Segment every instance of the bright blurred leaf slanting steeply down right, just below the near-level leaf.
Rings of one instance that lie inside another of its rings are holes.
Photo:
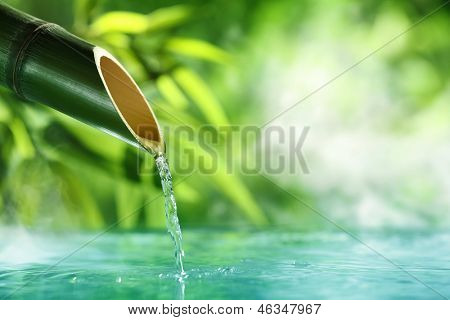
[[[199,75],[187,68],[178,68],[174,72],[174,78],[196,103],[210,124],[216,126],[229,124],[220,102]]]

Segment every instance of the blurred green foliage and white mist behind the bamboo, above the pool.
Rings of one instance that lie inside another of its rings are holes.
[[[443,3],[5,2],[110,50],[163,126],[193,128],[261,125]],[[349,226],[450,225],[449,23],[446,6],[276,119],[311,127],[310,174],[272,179]],[[157,179],[140,174],[142,155],[121,141],[1,89],[0,143],[4,224],[98,229],[141,208],[118,227],[165,225],[162,198],[143,206],[160,193]],[[176,186],[183,226],[327,225],[266,179],[227,175],[225,165]]]

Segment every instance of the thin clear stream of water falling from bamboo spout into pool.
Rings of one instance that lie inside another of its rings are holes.
[[[161,177],[164,193],[167,231],[170,233],[170,236],[175,243],[175,261],[178,272],[181,276],[184,276],[186,273],[183,268],[183,237],[181,235],[180,222],[178,221],[177,203],[173,193],[172,175],[170,174],[169,164],[164,154],[160,154],[156,157],[156,167],[158,168],[159,176]]]

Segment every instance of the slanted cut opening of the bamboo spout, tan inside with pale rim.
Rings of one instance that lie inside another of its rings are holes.
[[[106,90],[131,133],[152,153],[164,152],[164,141],[153,111],[131,76],[102,49],[96,52],[96,63]]]

